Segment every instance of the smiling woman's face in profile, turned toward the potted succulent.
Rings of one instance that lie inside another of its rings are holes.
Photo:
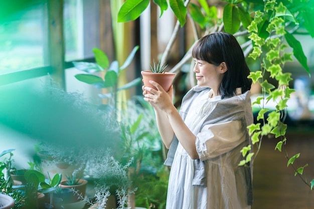
[[[200,87],[209,87],[217,92],[217,89],[223,79],[225,64],[221,63],[219,66],[210,64],[204,60],[194,59],[195,72],[197,84]]]

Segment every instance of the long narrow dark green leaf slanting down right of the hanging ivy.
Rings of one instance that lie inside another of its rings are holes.
[[[307,58],[304,55],[302,46],[299,41],[297,41],[294,36],[286,31],[284,35],[285,40],[289,44],[289,46],[293,49],[294,57],[299,61],[302,67],[306,70],[309,74],[309,68],[307,66]]]

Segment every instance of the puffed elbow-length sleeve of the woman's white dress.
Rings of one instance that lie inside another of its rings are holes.
[[[196,149],[200,160],[224,154],[246,138],[246,128],[241,120],[205,125],[196,136]]]

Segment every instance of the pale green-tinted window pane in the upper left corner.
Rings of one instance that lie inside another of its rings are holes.
[[[35,5],[12,9],[14,4],[11,1],[13,12],[3,14],[0,21],[0,74],[45,65],[46,4],[36,1]]]

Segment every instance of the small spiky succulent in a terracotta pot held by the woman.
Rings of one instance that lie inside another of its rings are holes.
[[[143,77],[144,85],[156,89],[149,83],[149,81],[155,81],[159,83],[166,92],[168,92],[176,74],[165,72],[167,66],[168,65],[164,66],[164,63],[161,64],[161,61],[159,61],[156,65],[156,62],[153,60],[153,66],[150,65],[150,71],[140,72]]]

